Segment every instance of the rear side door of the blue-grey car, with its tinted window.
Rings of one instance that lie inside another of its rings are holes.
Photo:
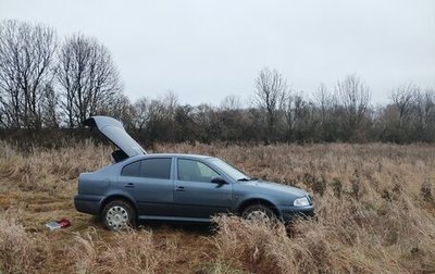
[[[139,217],[173,215],[172,161],[172,158],[145,159],[122,169],[120,187],[136,200]]]

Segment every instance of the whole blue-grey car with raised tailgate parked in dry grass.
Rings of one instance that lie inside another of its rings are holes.
[[[109,229],[141,220],[210,222],[220,213],[283,222],[313,215],[311,197],[302,189],[252,178],[214,157],[148,154],[112,117],[94,116],[84,124],[117,150],[115,163],[79,175],[74,204],[100,215]]]

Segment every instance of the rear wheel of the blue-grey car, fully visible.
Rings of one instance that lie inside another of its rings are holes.
[[[124,200],[113,200],[105,204],[101,217],[109,231],[122,231],[136,224],[136,212],[132,204]]]

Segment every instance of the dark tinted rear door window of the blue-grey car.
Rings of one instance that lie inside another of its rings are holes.
[[[146,159],[140,164],[140,177],[170,179],[171,158]]]

